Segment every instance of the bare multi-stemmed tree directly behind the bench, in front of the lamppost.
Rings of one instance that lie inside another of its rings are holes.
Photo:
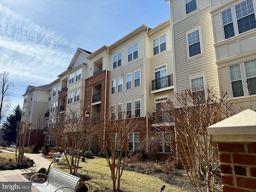
[[[70,174],[75,175],[78,165],[86,145],[91,136],[90,120],[86,118],[86,110],[84,102],[76,102],[67,105],[66,112],[57,113],[55,116],[56,123],[48,129],[48,134],[57,139],[60,147],[64,149],[70,147],[69,157],[65,153]],[[55,122],[55,120],[54,120]]]

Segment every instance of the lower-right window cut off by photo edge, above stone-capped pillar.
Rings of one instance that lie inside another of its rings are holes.
[[[256,59],[244,62],[244,70],[249,95],[256,94]]]

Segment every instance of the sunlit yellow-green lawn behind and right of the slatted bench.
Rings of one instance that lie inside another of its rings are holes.
[[[101,191],[105,188],[112,189],[112,179],[110,175],[110,168],[104,158],[87,159],[86,162],[79,162],[78,173],[85,174],[92,177],[92,180],[84,181],[89,188],[89,192]],[[54,165],[55,168],[60,169],[61,166]],[[69,173],[67,169],[60,169]],[[126,192],[141,192],[141,191],[160,191],[162,185],[165,185],[166,191],[172,192],[186,192],[174,186],[161,181],[158,178],[140,174],[136,172],[124,171],[121,177],[121,190]]]

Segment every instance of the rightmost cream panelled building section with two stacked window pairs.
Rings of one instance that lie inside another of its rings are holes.
[[[256,1],[210,3],[220,87],[239,105],[256,110]]]

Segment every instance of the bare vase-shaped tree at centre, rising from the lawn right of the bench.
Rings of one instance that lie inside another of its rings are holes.
[[[108,162],[113,181],[113,191],[120,190],[120,180],[124,170],[124,164],[128,158],[128,141],[133,132],[138,128],[138,118],[112,109],[102,125],[105,133],[103,150]],[[118,114],[118,120],[116,120]],[[138,147],[134,146],[135,148]],[[133,149],[130,149],[133,150]],[[116,187],[117,182],[117,187]]]

